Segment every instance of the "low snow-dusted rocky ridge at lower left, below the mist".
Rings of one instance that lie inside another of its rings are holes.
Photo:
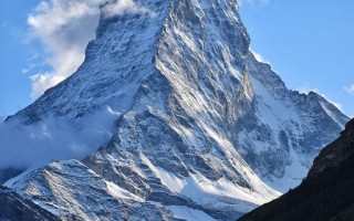
[[[9,183],[10,185],[10,183]],[[80,220],[162,220],[171,213],[100,178],[77,160],[54,161],[11,188],[54,213]]]

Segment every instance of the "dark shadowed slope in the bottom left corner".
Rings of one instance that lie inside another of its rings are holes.
[[[0,186],[0,220],[59,221],[60,219],[14,191]]]

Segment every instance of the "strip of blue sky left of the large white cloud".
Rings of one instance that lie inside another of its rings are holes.
[[[22,73],[34,55],[35,43],[27,44],[27,17],[35,1],[0,1],[0,116],[31,102],[31,81]],[[32,57],[31,57],[32,56]]]

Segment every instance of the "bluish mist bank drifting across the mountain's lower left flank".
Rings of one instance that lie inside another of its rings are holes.
[[[82,159],[104,146],[121,116],[110,107],[75,124],[46,118],[35,125],[0,124],[0,169],[41,167],[52,160]]]

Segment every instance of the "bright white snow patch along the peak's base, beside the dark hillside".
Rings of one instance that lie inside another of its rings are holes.
[[[209,180],[200,172],[179,178],[163,168],[155,167],[143,154],[140,158],[170,191],[184,194],[207,207],[222,208],[225,204],[233,204],[239,211],[247,212],[280,196],[279,192],[268,189],[254,173],[248,173],[251,179],[253,178],[253,185],[259,188],[252,191],[223,178],[217,181]]]

